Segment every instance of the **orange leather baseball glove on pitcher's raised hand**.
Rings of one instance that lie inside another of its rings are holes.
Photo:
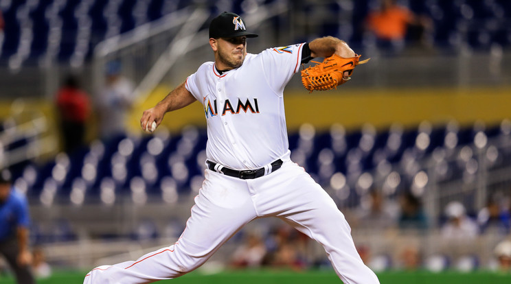
[[[325,58],[323,62],[313,61],[318,64],[302,70],[302,84],[310,93],[314,90],[325,91],[337,88],[351,79],[349,76],[352,75],[356,65],[364,64],[371,59],[359,61],[360,57],[355,54],[352,58],[342,58],[334,54]],[[348,78],[344,77],[345,71],[349,72]]]

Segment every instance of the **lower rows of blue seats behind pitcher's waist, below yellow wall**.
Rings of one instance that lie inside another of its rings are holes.
[[[47,205],[112,204],[115,196],[126,194],[133,202],[145,203],[150,196],[175,202],[177,196],[201,187],[206,140],[205,130],[194,127],[177,135],[164,130],[154,136],[121,135],[94,141],[69,155],[60,153],[45,165],[28,164],[14,177],[21,191]],[[346,189],[344,198],[355,200],[374,186],[388,187],[389,194],[409,189],[420,180],[417,176],[428,174],[429,161],[435,161],[438,182],[475,175],[481,163],[487,169],[506,166],[511,161],[510,142],[508,120],[492,128],[481,123],[459,128],[455,122],[433,127],[423,122],[416,129],[394,125],[379,132],[369,125],[355,132],[334,125],[330,132],[316,133],[304,124],[289,136],[295,163],[323,187]]]

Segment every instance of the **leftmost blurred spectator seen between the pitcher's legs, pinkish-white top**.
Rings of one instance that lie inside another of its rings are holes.
[[[262,264],[262,259],[266,255],[266,247],[262,239],[253,233],[249,233],[245,239],[245,244],[239,246],[231,260],[234,268],[258,268]]]

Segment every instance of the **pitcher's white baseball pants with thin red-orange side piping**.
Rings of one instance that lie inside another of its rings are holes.
[[[280,217],[322,244],[345,284],[379,283],[356,252],[351,228],[332,198],[304,169],[287,159],[277,171],[252,180],[206,169],[192,215],[175,244],[137,261],[95,268],[85,276],[84,284],[174,279],[205,263],[242,226],[268,216]]]

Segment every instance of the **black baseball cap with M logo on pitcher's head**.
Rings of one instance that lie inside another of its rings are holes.
[[[255,38],[258,35],[247,32],[241,17],[232,12],[223,12],[209,24],[209,38],[234,38],[236,36]]]

